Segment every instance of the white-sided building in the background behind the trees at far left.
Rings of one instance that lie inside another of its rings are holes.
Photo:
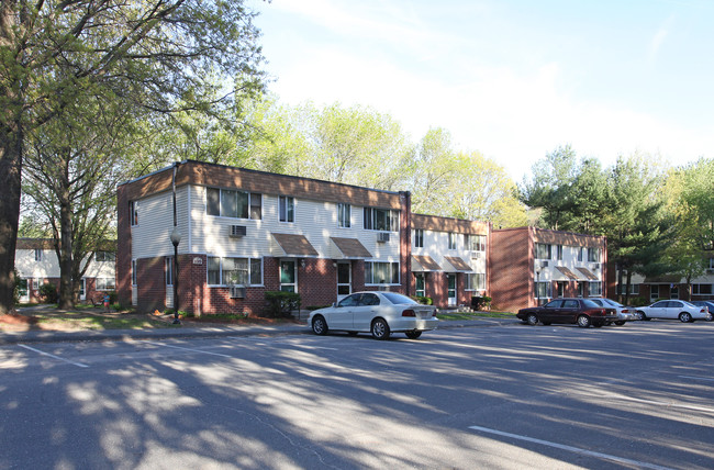
[[[81,280],[79,300],[86,300],[96,292],[115,289],[115,251],[113,246],[111,248],[94,254]],[[88,261],[86,259],[82,267]],[[59,289],[59,259],[54,240],[49,238],[18,238],[15,269],[20,276],[21,302],[40,302],[40,287],[45,283]]]

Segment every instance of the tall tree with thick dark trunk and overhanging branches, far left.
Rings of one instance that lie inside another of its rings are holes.
[[[27,135],[87,89],[155,112],[211,112],[216,93],[259,90],[253,16],[242,0],[0,3],[0,313],[12,309]]]

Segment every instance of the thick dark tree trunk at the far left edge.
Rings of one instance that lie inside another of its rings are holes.
[[[0,112],[11,113],[9,110]],[[7,122],[0,122],[0,314],[14,307],[22,141],[22,125],[19,120],[10,126]]]

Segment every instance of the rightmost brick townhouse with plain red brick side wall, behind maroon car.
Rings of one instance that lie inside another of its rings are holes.
[[[493,307],[515,312],[561,296],[606,296],[605,237],[535,227],[491,232]]]

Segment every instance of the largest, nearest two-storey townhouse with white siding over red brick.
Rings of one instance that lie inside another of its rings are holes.
[[[277,290],[303,306],[413,293],[409,192],[187,160],[118,188],[118,293],[140,311],[174,304],[175,211],[179,310],[255,314]]]

